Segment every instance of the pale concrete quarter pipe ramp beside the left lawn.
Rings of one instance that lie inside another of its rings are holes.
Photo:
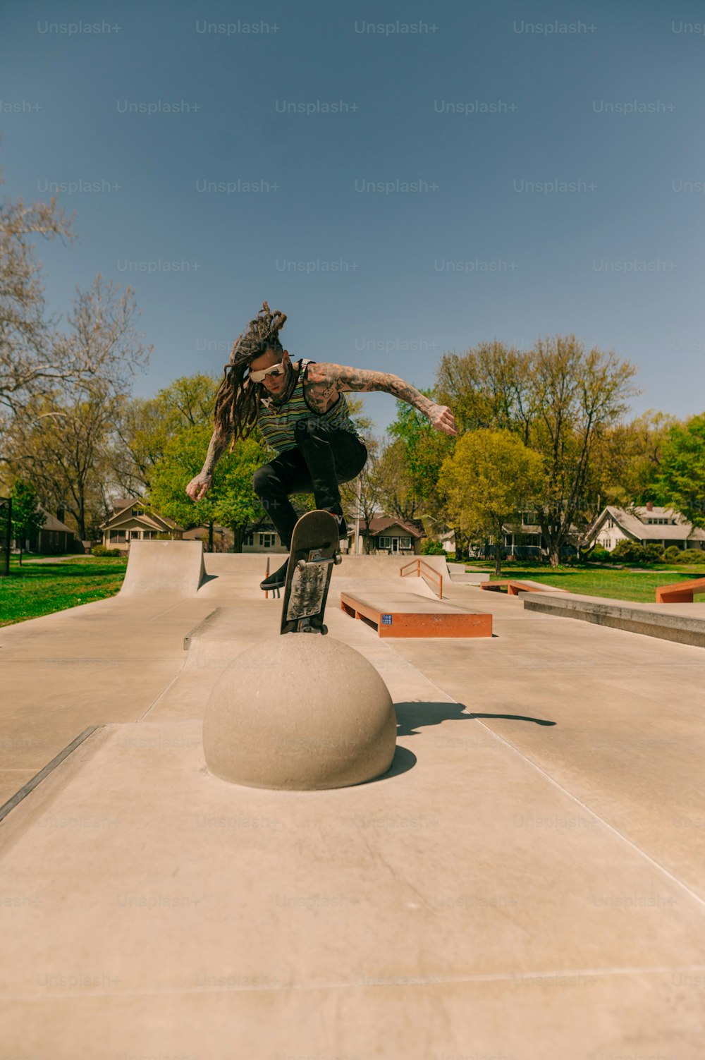
[[[192,597],[204,575],[200,541],[134,541],[119,596]]]

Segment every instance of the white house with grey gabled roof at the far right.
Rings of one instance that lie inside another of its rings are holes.
[[[651,501],[629,512],[609,505],[585,532],[586,546],[599,545],[607,552],[619,541],[639,545],[675,546],[680,549],[705,547],[705,530],[693,527],[674,508],[657,508]]]

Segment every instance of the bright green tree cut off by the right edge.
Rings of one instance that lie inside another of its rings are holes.
[[[705,527],[705,412],[670,428],[653,488],[662,505]]]

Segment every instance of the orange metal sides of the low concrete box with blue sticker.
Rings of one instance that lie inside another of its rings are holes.
[[[423,601],[428,603],[430,601]],[[351,618],[373,626],[380,637],[491,637],[492,615],[479,612],[386,611],[360,600],[352,593],[340,594],[340,608]]]

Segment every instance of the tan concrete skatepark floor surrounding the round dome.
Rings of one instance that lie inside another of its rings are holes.
[[[702,1057],[703,649],[446,577],[492,638],[381,640],[340,589],[429,590],[366,559],[327,623],[398,750],[354,788],[206,768],[213,684],[279,629],[262,555],[0,629],[0,803],[98,726],[0,824],[0,1055]]]

